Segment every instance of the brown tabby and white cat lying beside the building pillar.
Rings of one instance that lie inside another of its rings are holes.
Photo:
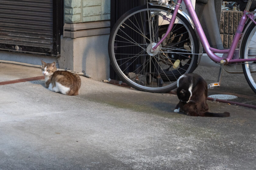
[[[55,62],[41,62],[46,88],[69,96],[79,94],[81,79],[78,74],[73,74],[69,71],[57,71]]]

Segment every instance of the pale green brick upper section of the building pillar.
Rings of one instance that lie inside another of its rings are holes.
[[[110,0],[65,0],[65,22],[79,23],[110,19]]]

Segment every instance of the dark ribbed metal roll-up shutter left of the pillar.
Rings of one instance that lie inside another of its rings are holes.
[[[58,11],[62,5],[59,2],[0,0],[0,49],[47,56],[60,55],[61,24],[58,21],[62,17]]]

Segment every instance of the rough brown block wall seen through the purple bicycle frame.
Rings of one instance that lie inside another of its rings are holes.
[[[221,11],[219,31],[224,48],[231,46],[242,15],[241,11]]]

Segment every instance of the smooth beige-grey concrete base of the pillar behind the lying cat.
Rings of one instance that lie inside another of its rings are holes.
[[[77,72],[84,71],[98,81],[108,79],[108,37],[109,35],[98,35],[72,39],[62,36],[59,67]]]

